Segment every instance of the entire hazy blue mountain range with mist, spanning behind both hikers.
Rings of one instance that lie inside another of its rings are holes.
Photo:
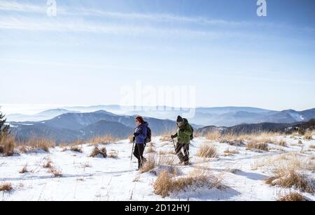
[[[47,110],[32,116],[8,115],[11,131],[21,140],[37,137],[49,138],[57,142],[87,140],[102,135],[127,138],[134,132],[134,117],[136,115],[134,111],[127,111],[134,113],[132,115],[116,114],[106,110],[87,112],[94,108],[106,108],[126,113],[126,110],[130,110],[127,107],[110,105],[68,108],[71,110]],[[179,114],[183,115],[183,111],[176,110],[174,107],[164,107],[164,112],[146,108],[146,110],[139,110],[137,113],[146,116],[146,121],[150,124],[155,135],[173,132],[176,129],[176,123],[170,119],[176,119]],[[163,107],[158,108],[162,110]],[[166,119],[167,116],[170,119]],[[16,121],[12,120],[14,117],[16,117]],[[247,133],[248,131],[281,130],[310,119],[315,119],[315,109],[301,112],[295,110],[279,112],[255,107],[199,107],[195,109],[195,117],[189,121],[196,131],[198,129],[199,133],[209,133],[209,131]]]

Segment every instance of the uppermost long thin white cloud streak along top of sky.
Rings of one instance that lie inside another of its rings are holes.
[[[18,3],[16,1],[2,1],[0,0],[0,10],[16,11],[25,13],[46,13],[45,4],[34,5],[29,3]],[[229,27],[229,28],[241,28],[241,27],[269,27],[272,29],[286,29],[289,31],[297,30],[304,31],[305,33],[313,34],[315,29],[310,27],[292,27],[286,24],[276,24],[272,22],[233,22],[229,20],[215,20],[208,17],[186,17],[171,14],[160,13],[120,13],[104,11],[95,8],[64,8],[57,6],[58,16],[78,16],[78,17],[107,17],[118,20],[140,20],[146,22],[165,22],[165,23],[181,23],[181,24],[197,24],[200,26],[214,26],[214,27]]]

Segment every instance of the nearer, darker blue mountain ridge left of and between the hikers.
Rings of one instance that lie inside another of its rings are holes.
[[[146,121],[155,135],[176,129],[175,121],[169,119],[146,117]],[[20,140],[36,137],[71,142],[102,135],[127,138],[134,133],[134,116],[118,115],[104,110],[88,113],[69,112],[44,121],[10,122],[10,126],[12,133]]]

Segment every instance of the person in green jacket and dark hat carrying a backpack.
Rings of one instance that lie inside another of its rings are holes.
[[[172,139],[177,138],[175,151],[181,163],[189,165],[189,144],[190,137],[193,134],[193,128],[188,123],[188,120],[183,119],[181,116],[177,117],[176,124],[178,127],[177,133],[172,135]],[[183,149],[185,155],[183,155],[181,149]]]

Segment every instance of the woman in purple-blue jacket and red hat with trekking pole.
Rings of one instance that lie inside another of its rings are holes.
[[[138,159],[138,169],[141,169],[146,158],[144,158],[144,149],[146,148],[146,136],[148,133],[148,123],[144,121],[144,118],[138,116],[135,119],[137,127],[134,131],[134,156]]]

